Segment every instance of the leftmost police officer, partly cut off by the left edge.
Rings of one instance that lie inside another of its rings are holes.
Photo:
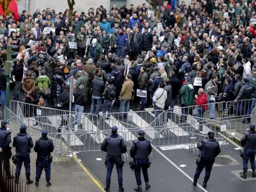
[[[7,121],[1,121],[0,128],[0,164],[4,162],[4,170],[8,178],[13,178],[10,171],[10,159],[12,156],[11,147],[11,131],[6,129]]]

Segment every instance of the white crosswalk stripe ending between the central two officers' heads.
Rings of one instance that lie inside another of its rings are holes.
[[[105,123],[107,123],[109,127],[116,126],[118,127],[119,131],[124,132],[124,136],[126,136],[126,141],[133,141],[137,139],[132,133],[130,133],[130,131],[126,127],[124,127],[124,125],[122,125],[122,123],[120,123],[119,120],[115,119],[113,115],[110,115],[109,119],[105,119]]]

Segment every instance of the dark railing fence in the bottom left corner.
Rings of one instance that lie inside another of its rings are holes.
[[[0,152],[0,191],[3,192],[27,192],[27,185],[20,180],[19,184],[15,183],[14,167],[9,164],[10,154]],[[24,182],[25,183],[25,182]]]

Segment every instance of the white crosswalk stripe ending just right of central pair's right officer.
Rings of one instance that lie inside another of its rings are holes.
[[[140,115],[138,115],[136,112],[130,110],[130,113],[128,115],[132,114],[132,122],[136,124],[141,130],[145,131],[145,133],[150,136],[151,139],[154,138],[163,138],[163,135],[158,133],[158,131],[154,130],[153,127],[151,127]],[[148,130],[149,129],[149,130]],[[156,134],[157,133],[157,134]],[[157,135],[157,136],[156,136]]]

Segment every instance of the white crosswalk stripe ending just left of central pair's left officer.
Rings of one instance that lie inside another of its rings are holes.
[[[97,133],[99,132],[99,130],[96,127],[96,125],[90,119],[88,119],[88,117],[84,114],[82,115],[81,123],[85,131],[95,132],[95,133],[90,133],[90,136],[92,136],[92,138],[96,141],[96,143],[102,143],[102,141],[106,136],[103,133]],[[89,130],[88,127],[92,128],[92,130]]]

